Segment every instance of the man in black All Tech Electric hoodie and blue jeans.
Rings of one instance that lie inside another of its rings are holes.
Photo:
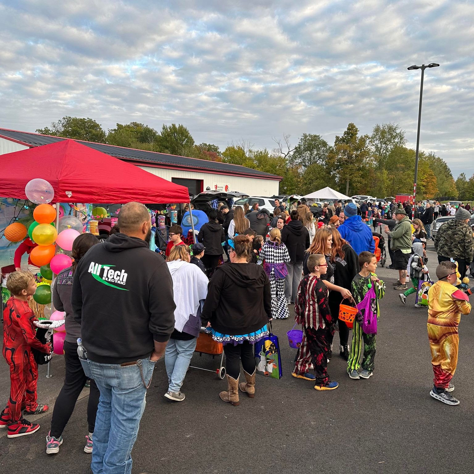
[[[82,366],[100,390],[94,474],[131,471],[146,389],[174,329],[173,282],[163,258],[148,248],[148,210],[125,204],[118,227],[82,257],[71,298],[87,351]]]

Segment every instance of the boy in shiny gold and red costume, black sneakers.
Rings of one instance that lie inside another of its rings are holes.
[[[455,262],[441,262],[436,268],[436,282],[428,291],[428,339],[431,364],[435,374],[434,386],[429,394],[448,405],[458,405],[459,400],[450,392],[457,365],[459,346],[458,326],[461,314],[469,314],[471,305],[467,295],[456,288]]]

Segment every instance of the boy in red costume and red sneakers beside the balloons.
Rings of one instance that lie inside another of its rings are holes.
[[[10,366],[10,397],[0,415],[0,428],[8,428],[8,438],[30,435],[39,429],[21,415],[35,415],[48,410],[47,405],[36,403],[37,365],[31,349],[49,354],[50,346],[36,338],[34,313],[28,298],[36,291],[36,282],[30,272],[10,273],[7,288],[12,296],[3,310],[3,356]]]

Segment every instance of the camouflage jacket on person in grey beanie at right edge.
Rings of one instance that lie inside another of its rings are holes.
[[[451,219],[445,222],[435,237],[438,255],[464,259],[470,264],[474,257],[473,231],[462,220]]]

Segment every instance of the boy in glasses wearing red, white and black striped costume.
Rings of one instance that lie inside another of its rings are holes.
[[[301,280],[295,302],[295,320],[303,325],[310,348],[316,390],[334,390],[339,386],[328,375],[328,353],[336,320],[329,310],[328,290],[320,278],[321,274],[326,273],[327,265],[322,254],[308,257],[310,274]]]

